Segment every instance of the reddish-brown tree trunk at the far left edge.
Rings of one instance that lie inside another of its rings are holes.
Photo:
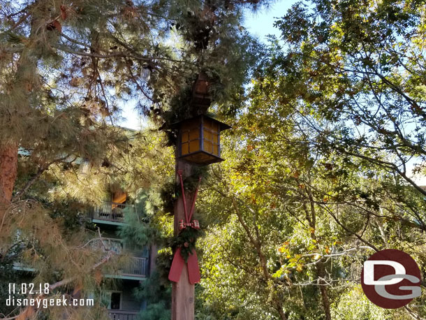
[[[17,144],[0,145],[0,205],[6,206],[12,199],[17,175]]]

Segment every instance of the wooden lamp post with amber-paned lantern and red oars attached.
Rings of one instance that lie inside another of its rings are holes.
[[[220,133],[230,129],[230,126],[204,115],[212,101],[208,94],[208,86],[209,81],[206,75],[200,73],[193,85],[191,99],[191,107],[197,111],[193,113],[198,115],[174,125],[178,133],[175,154],[176,181],[182,188],[182,194],[175,201],[174,207],[175,236],[179,235],[184,228],[199,228],[198,221],[191,221],[197,191],[186,197],[183,187],[184,178],[191,176],[193,166],[207,166],[223,161],[220,157]],[[188,208],[191,208],[190,212]],[[195,250],[193,254],[190,254],[187,262],[181,256],[181,248],[176,250],[169,279],[172,281],[172,320],[193,320],[194,283],[200,279]]]

